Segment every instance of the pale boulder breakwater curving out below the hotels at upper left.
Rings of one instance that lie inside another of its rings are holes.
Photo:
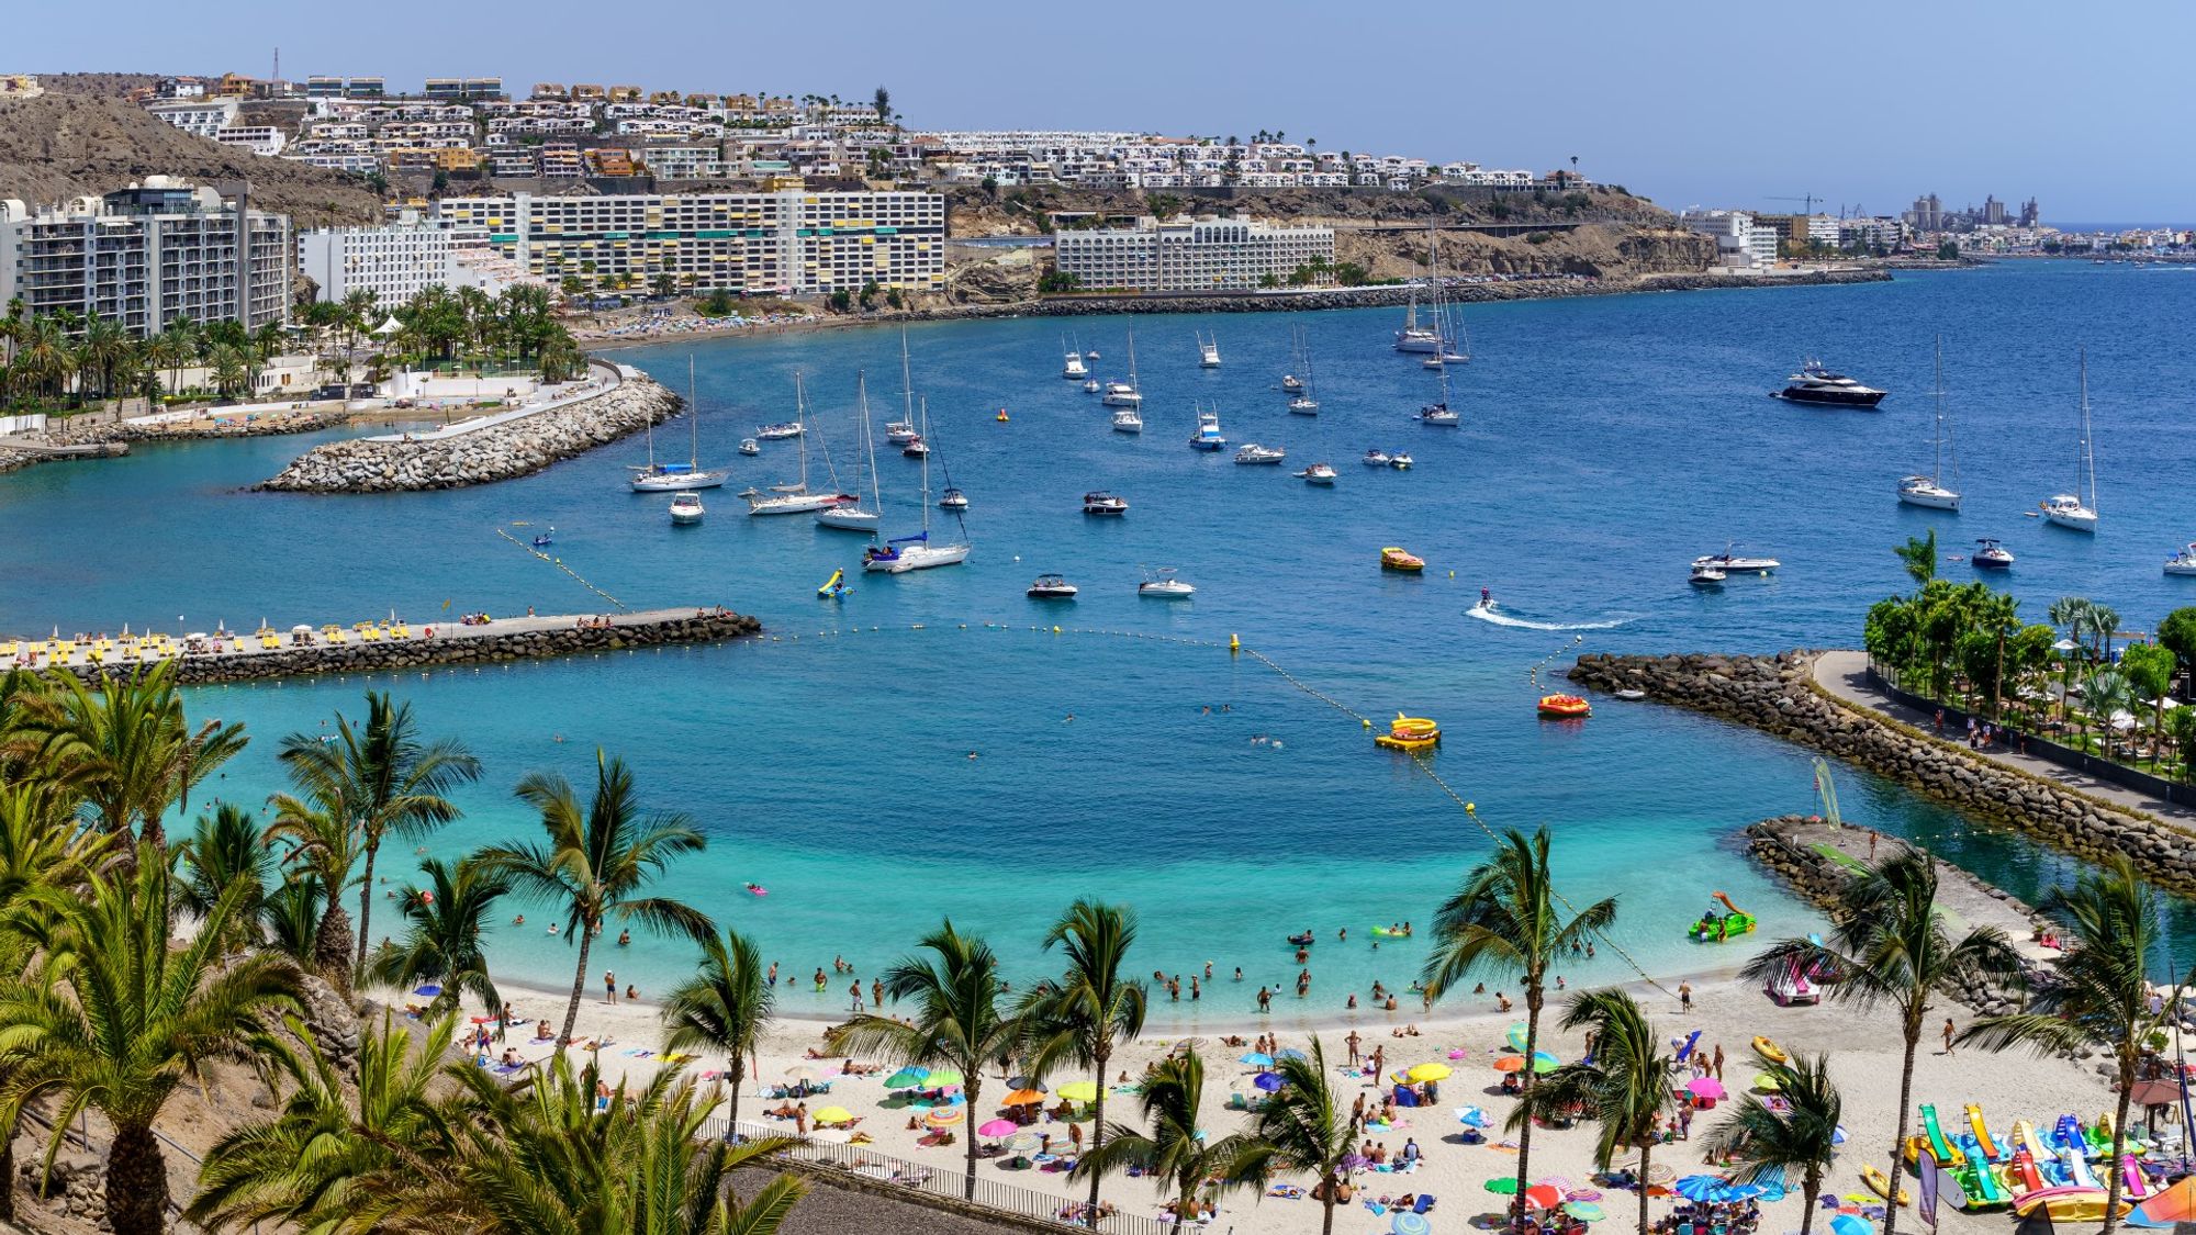
[[[277,492],[408,492],[534,475],[661,424],[683,400],[632,369],[610,389],[457,435],[329,442],[253,488]]]

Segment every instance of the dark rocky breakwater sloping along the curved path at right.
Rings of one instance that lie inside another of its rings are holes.
[[[2126,853],[2156,883],[2196,890],[2196,835],[1831,699],[1814,683],[1812,666],[1810,653],[1590,653],[1570,668],[1570,681],[1590,690],[1640,690],[1658,703],[1748,725],[1889,776],[2077,857]]]

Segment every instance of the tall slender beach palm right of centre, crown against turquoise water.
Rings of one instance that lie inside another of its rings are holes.
[[[1590,936],[1616,921],[1616,899],[1605,897],[1572,910],[1555,892],[1548,872],[1548,828],[1531,837],[1511,828],[1495,842],[1495,853],[1465,875],[1465,881],[1434,914],[1434,945],[1425,958],[1425,993],[1438,1000],[1452,987],[1476,973],[1524,976],[1524,1092],[1531,1097],[1535,1077],[1533,1053],[1539,1050],[1539,1013],[1548,1002],[1548,967],[1581,952]],[[1517,1193],[1524,1195],[1533,1176],[1533,1125],[1517,1132]]]

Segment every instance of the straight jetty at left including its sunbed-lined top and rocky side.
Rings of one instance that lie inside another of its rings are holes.
[[[182,683],[200,686],[323,672],[498,664],[668,644],[720,644],[760,633],[760,620],[729,609],[652,609],[646,613],[615,613],[608,618],[501,618],[474,626],[435,622],[419,628],[404,628],[402,635],[378,633],[373,639],[365,639],[358,633],[345,633],[345,642],[340,644],[329,642],[325,635],[279,635],[279,646],[264,648],[259,646],[259,639],[231,637],[224,639],[224,650],[220,653],[180,653],[180,668],[176,677]],[[51,668],[72,672],[88,681],[99,681],[108,677],[125,677],[138,664],[143,661],[125,657],[114,657],[105,664],[88,664],[79,648],[79,653],[66,664]]]

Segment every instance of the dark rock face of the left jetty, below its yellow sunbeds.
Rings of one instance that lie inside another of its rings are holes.
[[[668,644],[720,644],[762,633],[762,622],[744,613],[722,609],[676,609],[663,613],[641,613],[617,618],[613,626],[575,626],[575,620],[558,620],[558,626],[536,624],[536,628],[509,633],[470,633],[468,626],[450,626],[450,635],[435,639],[391,639],[356,644],[316,644],[310,648],[253,650],[187,655],[180,661],[178,681],[204,686],[220,681],[253,681],[264,677],[305,677],[323,672],[371,672],[435,668],[452,664],[501,664],[518,659],[573,657],[580,653],[608,653],[621,648],[652,648]],[[81,679],[127,677],[132,666],[66,666]]]

